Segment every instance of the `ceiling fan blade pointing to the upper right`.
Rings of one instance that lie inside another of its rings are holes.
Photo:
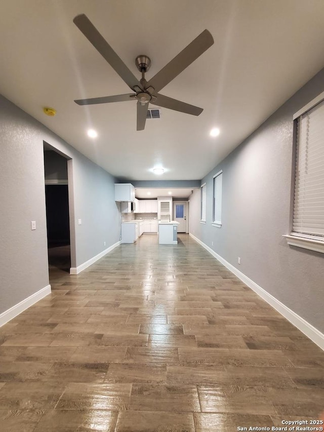
[[[156,93],[159,92],[213,44],[213,36],[208,30],[204,30],[173,60],[157,72],[148,84],[155,89]]]

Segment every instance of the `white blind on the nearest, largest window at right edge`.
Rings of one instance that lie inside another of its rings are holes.
[[[297,119],[293,233],[324,241],[324,101]]]

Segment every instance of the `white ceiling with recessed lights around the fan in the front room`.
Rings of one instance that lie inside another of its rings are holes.
[[[163,109],[137,132],[136,102],[76,105],[129,92],[73,24],[81,13],[136,76],[148,55],[148,80],[207,28],[215,44],[161,91],[203,113]],[[154,180],[161,165],[158,180],[200,179],[324,66],[323,22],[323,0],[2,0],[0,92],[117,177]]]

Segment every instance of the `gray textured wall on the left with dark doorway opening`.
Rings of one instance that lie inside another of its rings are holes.
[[[120,213],[110,174],[2,96],[0,131],[2,313],[49,284],[43,141],[71,159],[72,267],[119,241]],[[32,220],[35,231],[30,229]]]

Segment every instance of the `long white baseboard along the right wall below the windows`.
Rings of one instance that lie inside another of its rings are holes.
[[[244,273],[237,270],[232,264],[227,262],[224,258],[218,255],[213,249],[208,247],[205,243],[201,242],[194,235],[189,233],[190,237],[195,240],[199,245],[203,246],[210,254],[212,254],[218,261],[220,261],[226,268],[228,268],[232,273],[237,276],[242,282],[244,282],[248,287],[250,287],[253,291],[255,291],[260,297],[263,298],[267,303],[270,304],[275,310],[281,313],[282,316],[287,318],[295,327],[297,327],[302,333],[304,333],[310,340],[312,340],[316,345],[318,345],[321,349],[324,350],[324,334],[305,321],[302,317],[297,315],[293,310],[287,307],[284,303],[281,303],[263,288],[261,288],[258,284],[253,282],[250,278],[248,278]]]

